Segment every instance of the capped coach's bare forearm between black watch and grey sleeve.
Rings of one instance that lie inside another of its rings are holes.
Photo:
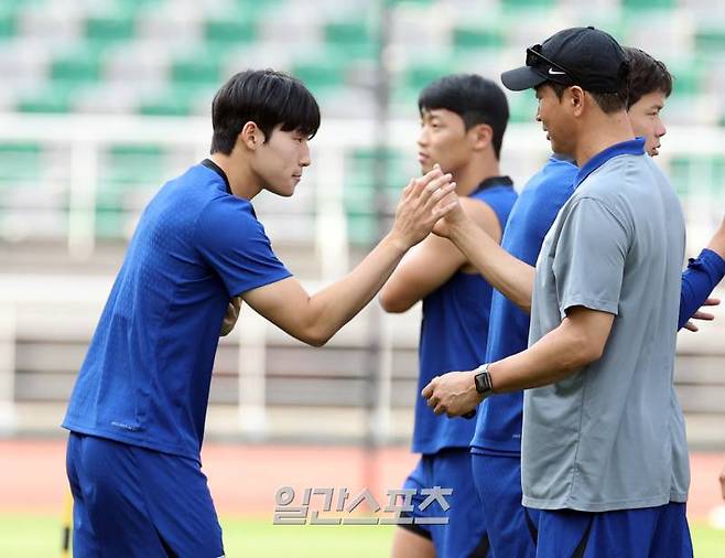
[[[494,391],[553,384],[599,356],[584,335],[563,323],[526,351],[491,364]]]

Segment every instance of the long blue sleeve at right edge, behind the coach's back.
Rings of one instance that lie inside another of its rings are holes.
[[[713,250],[705,248],[696,258],[690,258],[688,269],[682,272],[678,330],[688,323],[724,275],[725,260]]]

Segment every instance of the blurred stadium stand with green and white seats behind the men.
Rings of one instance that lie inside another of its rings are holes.
[[[390,44],[381,60],[390,86],[388,114],[396,124],[387,130],[389,146],[379,150],[371,121],[380,75],[379,14],[370,2],[353,0],[342,8],[318,0],[314,10],[305,0],[0,2],[0,304],[21,316],[11,333],[0,335],[0,345],[12,344],[11,364],[3,364],[0,351],[0,385],[9,374],[2,366],[12,365],[19,428],[55,427],[98,315],[95,297],[105,297],[104,281],[120,265],[139,212],[164,180],[204,157],[214,92],[246,67],[288,71],[321,101],[315,163],[294,201],[261,195],[255,204],[275,248],[306,280],[331,279],[354,264],[377,238],[378,217],[385,227],[399,189],[418,172],[414,120],[421,87],[451,72],[497,76],[520,62],[522,45],[583,22],[670,66],[675,88],[666,115],[672,130],[659,162],[682,196],[692,250],[722,218],[725,7],[708,0],[593,0],[585,7],[574,0],[389,0],[386,6]],[[509,101],[504,168],[521,183],[545,157],[545,146],[532,124],[533,96],[511,94]],[[377,180],[379,161],[386,165],[383,183]],[[33,301],[31,288],[47,288],[46,276],[83,278],[82,283],[96,278],[100,287],[94,279],[77,298],[56,293]],[[419,318],[386,318],[392,333],[379,356],[383,365],[372,365],[388,371],[386,389],[394,394],[386,404],[393,415],[391,437],[408,436]],[[354,406],[350,412],[359,412],[360,401],[370,397],[365,371],[371,368],[366,355],[375,323],[362,318],[329,348],[314,353],[264,330],[261,388],[253,374],[250,380],[248,371],[240,372],[240,354],[258,345],[246,337],[226,340],[212,394],[212,432],[234,432],[238,422],[228,426],[225,418],[248,403],[240,394],[257,394],[251,407],[269,406],[270,436],[285,434],[275,430],[274,414],[288,408]],[[711,331],[701,339],[722,340],[722,320]],[[716,405],[725,387],[713,372],[715,356],[700,357],[688,347],[679,361],[683,405],[704,425],[695,443],[714,444],[713,428],[722,432],[725,426]],[[44,406],[55,409],[50,418],[35,412]],[[327,422],[333,428],[334,421]],[[342,425],[339,436],[355,434]]]

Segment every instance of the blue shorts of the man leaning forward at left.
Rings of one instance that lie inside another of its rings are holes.
[[[224,556],[197,461],[71,432],[66,469],[75,556]]]

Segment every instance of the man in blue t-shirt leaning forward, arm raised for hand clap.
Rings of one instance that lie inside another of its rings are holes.
[[[248,71],[219,89],[212,120],[210,158],[167,182],[141,215],[63,421],[73,546],[84,558],[223,556],[199,457],[220,330],[244,300],[324,344],[428,236],[454,187],[439,169],[411,181],[390,233],[310,296],[275,257],[250,201],[262,190],[294,193],[311,162],[317,103],[296,79]]]

